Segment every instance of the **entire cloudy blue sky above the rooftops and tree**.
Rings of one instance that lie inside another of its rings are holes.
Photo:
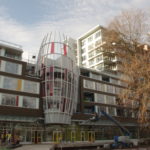
[[[0,0],[0,39],[37,53],[47,32],[77,38],[132,8],[149,11],[150,0]]]

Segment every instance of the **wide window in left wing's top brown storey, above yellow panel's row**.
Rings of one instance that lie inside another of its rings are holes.
[[[16,64],[16,63],[12,63],[12,62],[8,62],[8,61],[5,61],[6,64],[5,64],[5,72],[8,72],[8,73],[13,73],[13,74],[21,74],[21,65],[20,64]]]

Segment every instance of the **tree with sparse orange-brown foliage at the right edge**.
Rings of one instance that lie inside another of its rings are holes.
[[[132,103],[141,123],[150,121],[150,47],[142,44],[147,42],[148,28],[143,11],[123,11],[110,22],[104,48],[121,58],[120,71],[127,88],[119,97],[124,105]]]

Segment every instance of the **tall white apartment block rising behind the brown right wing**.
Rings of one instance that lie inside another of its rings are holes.
[[[108,57],[103,45],[107,44],[107,29],[98,25],[77,39],[77,63],[79,66],[100,71],[118,70],[117,57]]]

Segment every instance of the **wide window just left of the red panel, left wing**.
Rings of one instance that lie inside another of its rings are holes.
[[[18,96],[11,94],[2,94],[2,105],[18,106]]]

